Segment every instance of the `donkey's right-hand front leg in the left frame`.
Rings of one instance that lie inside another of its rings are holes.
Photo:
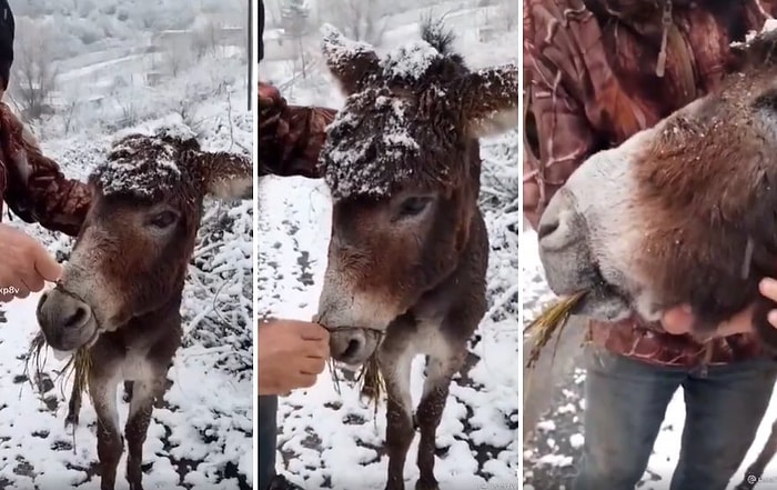
[[[163,370],[149,379],[135,380],[132,383],[130,414],[124,429],[129,450],[127,481],[130,483],[130,490],[143,490],[143,443],[149,431],[154,400],[164,389],[165,377],[167,370]]]

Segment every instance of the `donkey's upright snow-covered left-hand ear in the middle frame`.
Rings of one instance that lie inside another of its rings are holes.
[[[360,91],[363,83],[380,70],[375,49],[366,42],[346,39],[329,23],[321,27],[321,50],[340,89],[346,96]]]

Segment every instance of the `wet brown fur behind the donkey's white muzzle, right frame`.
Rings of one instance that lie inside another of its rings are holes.
[[[759,38],[739,56],[744,74],[670,117],[636,179],[649,244],[637,258],[642,279],[666,307],[689,298],[703,334],[758,302],[756,328],[777,349],[766,322],[777,304],[758,293],[761,278],[777,276],[777,144],[757,117],[777,120],[776,48],[777,33]]]

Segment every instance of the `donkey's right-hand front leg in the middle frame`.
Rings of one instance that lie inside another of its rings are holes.
[[[421,431],[417,458],[421,474],[415,490],[440,490],[437,479],[434,478],[437,426],[445,410],[453,374],[464,364],[466,346],[452,348],[450,352],[450,356],[427,358],[424,392],[415,412],[415,421]]]

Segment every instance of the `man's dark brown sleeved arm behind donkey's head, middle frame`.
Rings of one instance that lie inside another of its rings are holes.
[[[259,82],[259,176],[319,178],[326,127],[337,111],[289,106],[272,86]]]

